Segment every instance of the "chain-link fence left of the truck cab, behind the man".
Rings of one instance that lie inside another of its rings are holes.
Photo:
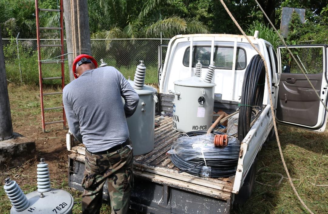
[[[158,72],[158,47],[160,44],[168,44],[169,39],[92,39],[91,50],[95,59],[100,64],[100,59],[109,66],[117,68],[126,78],[133,80],[136,66],[139,60],[143,60],[148,84],[157,83]],[[37,63],[36,39],[2,39],[7,79],[14,83],[26,83],[38,85],[39,73]],[[43,45],[60,44],[59,39],[43,39]],[[64,41],[66,52],[66,41]],[[163,59],[165,58],[163,49]],[[68,53],[70,54],[70,53]],[[45,47],[41,49],[41,60],[60,60],[60,47]],[[43,64],[43,77],[60,76],[61,67],[58,64]],[[69,70],[67,53],[65,54],[65,82],[69,83]],[[44,81],[44,84],[60,84],[60,80]]]

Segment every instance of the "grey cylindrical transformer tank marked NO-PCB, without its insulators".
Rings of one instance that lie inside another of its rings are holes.
[[[198,76],[174,82],[173,129],[181,132],[207,130],[213,122],[214,83]]]

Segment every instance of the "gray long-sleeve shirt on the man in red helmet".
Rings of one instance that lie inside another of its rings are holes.
[[[128,139],[126,117],[133,115],[138,102],[130,83],[110,66],[85,71],[63,90],[68,126],[90,152],[105,151]]]

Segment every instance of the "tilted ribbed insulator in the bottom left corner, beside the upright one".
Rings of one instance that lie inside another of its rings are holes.
[[[30,202],[15,181],[10,181],[10,178],[6,178],[3,188],[17,212],[23,211],[29,207]]]

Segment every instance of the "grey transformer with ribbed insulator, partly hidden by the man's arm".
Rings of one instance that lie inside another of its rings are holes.
[[[143,61],[137,66],[134,81],[128,80],[139,95],[139,104],[134,114],[127,118],[133,155],[146,154],[154,149],[156,88],[144,85],[146,67]]]

